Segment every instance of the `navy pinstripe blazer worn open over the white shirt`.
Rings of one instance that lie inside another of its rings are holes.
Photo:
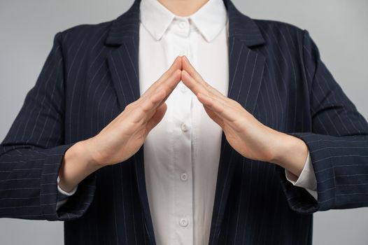
[[[311,244],[313,212],[368,206],[367,121],[307,31],[225,5],[228,97],[264,125],[306,142],[318,202],[292,186],[281,167],[243,158],[222,134],[210,244]],[[56,34],[1,144],[0,217],[66,221],[65,244],[155,244],[143,147],[88,176],[55,211],[65,151],[139,98],[138,45],[139,0],[116,20]]]

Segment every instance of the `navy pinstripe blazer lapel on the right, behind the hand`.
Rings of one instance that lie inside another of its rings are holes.
[[[239,102],[249,113],[254,112],[262,84],[265,57],[250,47],[262,45],[264,38],[255,22],[237,10],[232,1],[224,0],[229,16],[229,90],[227,97]],[[242,161],[222,132],[218,179],[211,222],[209,244],[217,244],[234,166]]]

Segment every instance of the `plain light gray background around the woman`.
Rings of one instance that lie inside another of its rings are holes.
[[[36,82],[57,31],[113,20],[132,3],[132,0],[0,0],[1,140]],[[233,3],[252,18],[281,20],[308,29],[334,78],[368,119],[367,0],[233,0]],[[367,208],[319,212],[314,217],[314,244],[368,244]],[[0,244],[63,244],[62,225],[62,222],[2,218]]]

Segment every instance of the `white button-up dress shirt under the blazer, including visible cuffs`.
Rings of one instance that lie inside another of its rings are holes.
[[[207,83],[227,95],[228,18],[222,0],[209,0],[187,17],[174,15],[157,0],[141,0],[140,11],[141,94],[178,55],[185,55]],[[166,103],[164,118],[143,145],[156,243],[208,244],[222,129],[182,82]],[[289,172],[285,174],[295,186],[306,188],[317,199],[309,154],[299,179]],[[63,192],[60,188],[59,191]]]

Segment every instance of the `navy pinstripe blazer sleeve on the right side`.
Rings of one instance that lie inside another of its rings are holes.
[[[309,148],[317,180],[318,201],[292,186],[281,171],[290,208],[310,214],[328,209],[368,206],[368,123],[341,90],[304,30],[302,47],[308,81],[312,132],[289,133]]]

